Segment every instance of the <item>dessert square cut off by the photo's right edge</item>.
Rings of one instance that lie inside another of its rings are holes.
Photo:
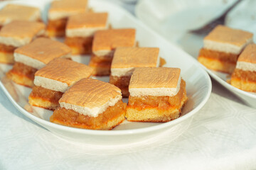
[[[245,47],[238,57],[230,84],[244,91],[256,92],[256,45]]]

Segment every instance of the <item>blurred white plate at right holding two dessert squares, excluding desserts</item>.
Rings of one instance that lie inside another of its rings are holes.
[[[183,0],[186,1],[186,0]],[[197,59],[198,52],[203,47],[203,35],[194,35],[188,33],[188,30],[201,28],[209,21],[213,20],[218,15],[221,15],[225,8],[228,8],[235,1],[169,1],[168,4],[161,5],[159,1],[139,1],[135,8],[136,16],[154,30],[158,31],[166,39],[176,43],[184,51],[188,52],[192,57]],[[225,25],[231,28],[238,28],[254,33],[254,42],[256,40],[255,32],[255,12],[251,6],[256,4],[255,1],[242,1],[236,6],[226,17]],[[158,4],[157,9],[161,12],[154,11],[152,6]],[[178,6],[178,8],[176,8]],[[200,7],[199,7],[200,6]],[[150,8],[151,7],[151,8]],[[246,10],[245,10],[246,8]],[[168,9],[168,10],[167,10]],[[160,11],[160,10],[159,10]],[[171,11],[171,12],[170,12]],[[159,14],[161,13],[161,15]],[[182,15],[181,15],[182,13]],[[241,15],[242,13],[242,15]],[[187,16],[186,18],[183,18]],[[175,20],[174,20],[175,18]],[[189,21],[188,21],[189,20]],[[157,24],[156,24],[157,23]],[[231,86],[228,83],[230,76],[221,72],[215,72],[207,69],[200,64],[203,69],[210,74],[218,83],[222,84],[230,92],[238,96],[245,104],[256,108],[256,94],[242,91]]]

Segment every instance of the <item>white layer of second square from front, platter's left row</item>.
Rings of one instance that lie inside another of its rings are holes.
[[[64,93],[66,90],[68,90],[68,84],[46,77],[36,76],[33,82],[36,86],[41,86],[53,91],[60,91]]]

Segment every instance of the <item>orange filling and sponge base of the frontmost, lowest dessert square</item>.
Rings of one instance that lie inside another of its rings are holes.
[[[111,130],[124,120],[126,107],[127,104],[120,100],[114,106],[110,106],[103,113],[100,113],[96,118],[82,115],[70,109],[58,108],[50,116],[50,122],[75,128]]]

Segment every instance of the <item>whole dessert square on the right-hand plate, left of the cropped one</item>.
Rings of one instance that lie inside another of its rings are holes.
[[[217,26],[203,39],[198,62],[208,69],[232,74],[238,56],[252,43],[252,36],[244,30]]]

